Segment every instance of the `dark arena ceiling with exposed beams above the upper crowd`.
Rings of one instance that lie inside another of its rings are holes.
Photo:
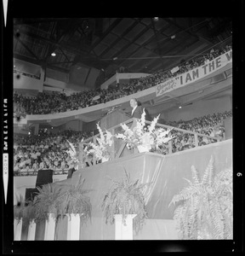
[[[14,58],[62,73],[152,73],[231,44],[230,18],[14,19]],[[55,53],[55,57],[51,54]],[[91,85],[94,87],[94,84]]]

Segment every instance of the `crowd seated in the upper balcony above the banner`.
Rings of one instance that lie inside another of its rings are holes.
[[[191,61],[180,61],[179,70],[175,73],[172,73],[171,70],[159,71],[145,78],[133,80],[129,84],[117,84],[103,90],[85,90],[74,93],[71,96],[66,96],[66,94],[57,91],[53,91],[52,94],[39,92],[37,97],[26,97],[14,92],[14,116],[26,117],[26,114],[62,113],[110,102],[160,84],[195,67],[202,66],[207,61],[212,61],[230,49],[231,46],[226,45],[224,49],[211,49],[208,54],[198,55]]]

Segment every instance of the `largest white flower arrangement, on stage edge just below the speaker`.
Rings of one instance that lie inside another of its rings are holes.
[[[164,130],[162,127],[156,128],[157,120],[160,114],[153,119],[151,125],[145,126],[145,109],[141,115],[140,120],[136,120],[136,125],[131,130],[128,125],[122,124],[124,133],[118,133],[115,137],[124,140],[127,143],[127,148],[135,148],[140,145],[144,146],[148,150],[157,150],[157,148],[173,137],[167,137],[169,131],[172,129]]]

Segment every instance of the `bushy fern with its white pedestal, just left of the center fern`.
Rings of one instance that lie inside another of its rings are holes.
[[[66,192],[60,193],[55,201],[60,216],[68,215],[68,240],[79,240],[80,221],[82,224],[86,223],[88,218],[91,221],[92,205],[86,194],[92,189],[83,189],[84,182],[85,179],[80,175],[77,183],[68,185]]]

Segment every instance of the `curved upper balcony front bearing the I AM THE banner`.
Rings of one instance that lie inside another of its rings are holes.
[[[162,96],[163,94],[170,92],[172,90],[178,90],[179,88],[182,88],[183,86],[193,84],[193,83],[201,83],[203,79],[208,78],[215,78],[217,79],[211,79],[208,83],[212,84],[217,83],[217,81],[220,80],[219,74],[224,73],[224,76],[222,79],[227,79],[227,84],[223,85],[228,86],[232,84],[231,76],[232,76],[232,49],[229,51],[224,52],[222,55],[217,56],[216,58],[210,60],[207,62],[207,64],[204,64],[202,66],[198,67],[190,67],[191,69],[188,70],[185,73],[176,73],[176,76],[170,76],[164,78],[164,76],[158,81],[158,78],[156,81],[152,82],[148,81],[147,84],[151,84],[151,86],[147,86],[147,88],[141,88],[139,90],[134,91],[131,95],[123,95],[121,93],[117,94],[117,99],[114,99],[115,94],[112,94],[112,99],[107,99],[106,102],[103,103],[94,103],[93,105],[90,105],[89,107],[78,108],[77,110],[71,110],[67,111],[68,107],[66,107],[66,110],[61,111],[59,109],[59,113],[35,113],[35,114],[27,114],[26,115],[26,122],[33,122],[33,121],[43,121],[43,120],[71,120],[71,119],[81,119],[85,122],[91,122],[95,119],[99,119],[101,116],[100,110],[101,108],[112,108],[117,105],[123,104],[125,102],[129,102],[132,97],[137,98],[141,101],[141,99],[144,99],[147,97],[148,100],[155,99],[158,96]],[[178,75],[177,75],[178,74]],[[118,74],[119,75],[119,74]],[[149,76],[150,77],[150,76]],[[153,76],[154,77],[154,76]],[[223,84],[223,83],[222,83]],[[143,87],[144,85],[141,84]],[[201,84],[200,84],[201,85]],[[141,86],[141,87],[142,87]],[[203,87],[204,85],[202,85]],[[207,84],[205,84],[205,87],[207,87]],[[198,87],[198,90],[201,90],[201,87]],[[91,100],[91,99],[90,99]],[[64,101],[63,103],[66,105],[66,102],[71,102],[72,100]],[[96,101],[95,101],[96,102]],[[141,101],[142,102],[142,101]],[[60,105],[59,105],[60,106]],[[44,107],[45,109],[45,107]],[[54,110],[54,109],[53,109]],[[56,111],[55,110],[55,111]],[[96,116],[93,118],[88,117],[88,113],[94,113],[97,112]]]

